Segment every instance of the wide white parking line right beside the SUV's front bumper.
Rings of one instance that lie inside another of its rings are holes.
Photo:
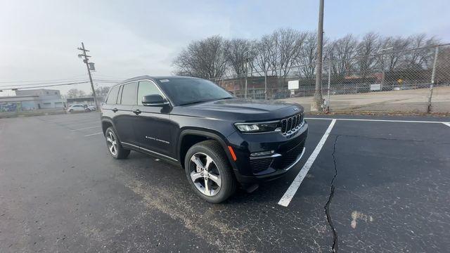
[[[321,149],[323,147],[323,144],[325,144],[326,139],[330,135],[331,129],[333,129],[333,126],[336,123],[336,119],[332,119],[330,126],[328,126],[328,129],[326,129],[325,134],[323,134],[321,140],[317,144],[314,151],[309,156],[307,162],[304,163],[302,169],[298,172],[297,176],[295,176],[294,181],[290,184],[288,190],[284,193],[283,197],[281,197],[280,201],[278,202],[278,205],[282,205],[283,207],[287,207],[290,203],[290,200],[293,199],[295,193],[297,192],[298,188],[300,187],[300,184],[302,184],[302,181],[304,177],[308,174],[309,169],[311,169],[312,164],[314,163],[314,160],[316,160],[317,155],[321,152]]]

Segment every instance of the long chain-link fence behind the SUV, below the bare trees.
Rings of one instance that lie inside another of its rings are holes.
[[[315,111],[315,63],[212,81],[240,98],[287,100]],[[450,114],[450,46],[328,57],[318,92],[322,103],[317,111]]]

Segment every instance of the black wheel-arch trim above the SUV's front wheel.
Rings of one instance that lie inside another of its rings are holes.
[[[220,145],[222,146],[222,148],[224,149],[226,157],[228,158],[228,161],[231,164],[231,167],[233,167],[233,170],[235,170],[235,171],[238,170],[238,168],[236,167],[236,164],[234,162],[232,162],[233,159],[231,157],[231,154],[228,151],[229,149],[228,149],[228,144],[226,142],[225,136],[223,136],[218,131],[214,131],[212,129],[201,129],[201,128],[192,128],[191,129],[190,128],[190,129],[183,129],[183,130],[181,130],[181,133],[179,134],[179,138],[178,138],[177,147],[176,147],[176,157],[178,158],[178,160],[180,162],[184,162],[184,161],[181,161],[181,154],[180,154],[181,140],[183,140],[184,136],[186,136],[188,134],[194,134],[194,135],[198,135],[198,136],[205,136],[207,138],[211,138],[214,141],[219,142]]]

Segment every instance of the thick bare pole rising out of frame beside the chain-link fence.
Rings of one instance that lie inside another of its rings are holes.
[[[323,48],[323,0],[319,0],[319,27],[317,29],[316,92],[311,111],[322,111],[322,48]]]

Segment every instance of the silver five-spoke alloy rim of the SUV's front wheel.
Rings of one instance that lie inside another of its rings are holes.
[[[191,180],[195,188],[207,196],[214,196],[221,188],[221,176],[217,164],[205,153],[195,153],[189,163]]]

